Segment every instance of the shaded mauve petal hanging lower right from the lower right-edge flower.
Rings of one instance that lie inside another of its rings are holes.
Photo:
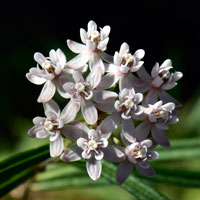
[[[169,140],[167,139],[163,131],[156,129],[155,127],[152,127],[151,133],[155,142],[157,142],[158,144],[164,147],[170,146]]]

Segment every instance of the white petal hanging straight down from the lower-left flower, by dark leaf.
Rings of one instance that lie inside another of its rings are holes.
[[[59,156],[63,150],[64,150],[64,140],[62,136],[58,137],[57,140],[50,142],[51,157]]]

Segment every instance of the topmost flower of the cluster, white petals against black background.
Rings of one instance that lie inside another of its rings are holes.
[[[89,62],[90,70],[100,69],[101,74],[104,74],[105,67],[103,60],[111,61],[112,58],[104,51],[107,48],[109,41],[110,26],[104,26],[100,31],[97,30],[97,24],[94,21],[89,21],[87,32],[81,28],[80,36],[83,44],[67,40],[67,45],[74,53],[79,55],[70,60],[67,65],[72,69],[80,70],[87,62]]]

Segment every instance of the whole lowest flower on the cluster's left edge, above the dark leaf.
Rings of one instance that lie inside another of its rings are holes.
[[[53,100],[44,103],[43,106],[46,117],[35,117],[33,119],[34,126],[28,131],[28,135],[35,138],[49,137],[50,155],[57,157],[64,150],[62,134],[65,132],[65,124],[73,121],[76,117],[75,106],[67,104],[62,112]]]

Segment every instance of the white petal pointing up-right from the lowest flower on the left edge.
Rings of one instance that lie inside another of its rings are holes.
[[[63,123],[69,123],[76,118],[76,115],[80,109],[80,103],[70,101],[62,110],[60,114],[60,119],[63,120]]]

